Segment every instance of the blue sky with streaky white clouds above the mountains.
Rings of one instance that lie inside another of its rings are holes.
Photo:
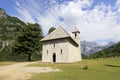
[[[39,23],[44,34],[76,26],[81,40],[120,41],[120,0],[0,0],[0,7],[24,22]]]

